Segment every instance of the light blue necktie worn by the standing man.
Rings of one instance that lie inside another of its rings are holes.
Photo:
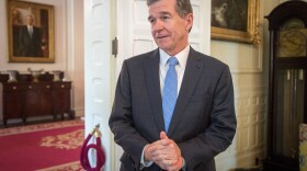
[[[169,129],[169,125],[172,118],[175,101],[177,101],[177,87],[178,78],[175,71],[175,65],[178,59],[175,57],[169,58],[169,70],[164,80],[163,95],[162,95],[162,109],[164,117],[166,132]]]

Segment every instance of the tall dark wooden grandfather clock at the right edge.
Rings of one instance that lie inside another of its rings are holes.
[[[307,2],[281,3],[266,19],[270,70],[263,170],[298,171],[299,124],[307,123]]]

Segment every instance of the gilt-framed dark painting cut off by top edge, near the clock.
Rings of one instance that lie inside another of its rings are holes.
[[[259,0],[212,0],[213,39],[260,43]]]

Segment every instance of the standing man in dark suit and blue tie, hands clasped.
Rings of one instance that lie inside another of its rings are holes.
[[[109,121],[124,150],[121,171],[215,171],[214,157],[231,144],[237,125],[229,68],[189,45],[190,0],[147,4],[159,48],[124,61]],[[171,68],[178,98],[169,110]]]

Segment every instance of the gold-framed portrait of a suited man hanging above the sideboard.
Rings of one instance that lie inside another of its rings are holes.
[[[9,62],[54,62],[54,7],[7,0]]]

